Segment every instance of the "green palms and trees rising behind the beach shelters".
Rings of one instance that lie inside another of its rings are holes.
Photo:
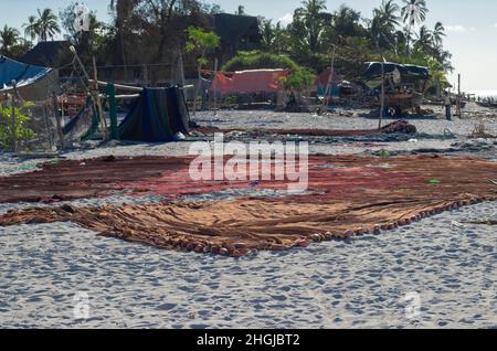
[[[432,83],[445,86],[447,73],[454,70],[452,54],[444,47],[445,28],[429,18],[426,1],[377,1],[369,15],[347,4],[331,10],[325,0],[305,0],[288,24],[260,17],[261,40],[252,47],[255,51],[232,53],[231,57],[237,56],[221,62],[223,68],[278,63],[292,67],[299,85],[308,81],[309,73],[319,73],[331,62],[340,74],[355,79],[364,62],[384,59],[429,66]],[[184,64],[193,72],[199,65],[213,68],[220,43],[201,47],[193,36],[209,35],[207,14],[222,12],[219,6],[201,0],[109,0],[112,20],[105,23],[91,13],[91,31],[76,33],[74,4],[59,15],[51,9],[38,10],[27,18],[22,30],[8,25],[0,29],[0,53],[20,56],[36,41],[64,35],[80,47],[85,60],[95,55],[102,65],[173,65],[182,53]],[[236,14],[247,13],[240,7]]]

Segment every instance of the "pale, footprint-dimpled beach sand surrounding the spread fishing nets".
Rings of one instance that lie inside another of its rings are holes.
[[[424,134],[414,141],[364,148],[314,140],[310,151],[435,149],[459,155],[463,150],[497,160],[495,140],[466,138],[480,119],[497,134],[497,119],[488,111],[475,109],[475,114],[477,118],[453,123],[412,120]],[[359,117],[260,111],[221,111],[216,117],[204,113],[195,120],[220,128],[377,126],[377,120]],[[454,136],[444,137],[445,129]],[[190,142],[117,146],[65,157],[187,155],[189,147]],[[41,161],[2,155],[0,174],[30,171]],[[104,201],[158,200],[116,195]],[[3,204],[0,213],[25,206]],[[0,327],[497,328],[497,230],[463,223],[496,216],[497,203],[483,203],[379,236],[237,260],[131,245],[70,223],[0,228]],[[78,319],[77,298],[86,295],[89,316]]]

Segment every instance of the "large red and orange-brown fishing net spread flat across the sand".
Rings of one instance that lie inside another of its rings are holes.
[[[51,187],[61,194],[73,187],[73,198],[103,196],[121,189],[181,199],[184,194],[251,187],[246,182],[190,181],[189,160],[104,158],[86,160],[85,166],[62,161],[39,172],[0,179],[0,202],[15,199],[3,190],[7,184],[23,187],[29,181],[33,184],[34,179],[52,177],[54,172],[60,172],[60,177],[52,179]],[[113,171],[108,172],[109,169]],[[117,176],[103,176],[108,173]],[[86,180],[89,174],[93,178]],[[497,163],[475,159],[310,157],[313,194],[205,202],[168,200],[150,205],[66,204],[10,211],[0,216],[0,225],[74,222],[101,235],[129,242],[237,257],[253,251],[283,251],[310,242],[380,233],[443,211],[495,201],[496,174]],[[35,185],[39,199],[47,195],[44,187],[43,181]],[[261,182],[257,187],[285,189],[286,184]]]

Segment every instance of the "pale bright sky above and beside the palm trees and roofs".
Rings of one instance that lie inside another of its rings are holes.
[[[59,12],[71,0],[1,0],[0,26],[6,23],[20,28],[38,8],[52,8]],[[208,1],[210,2],[210,1]],[[245,12],[264,15],[275,20],[287,20],[300,0],[213,0],[225,12],[234,12],[239,4]],[[399,3],[401,0],[398,1]],[[431,10],[427,25],[442,21],[447,28],[446,47],[454,54],[456,67],[451,82],[456,82],[456,74],[463,76],[463,89],[497,89],[497,1],[491,0],[427,0]],[[86,0],[85,3],[97,11],[99,19],[107,19],[107,0]],[[346,3],[370,17],[372,9],[381,0],[328,0],[328,10]]]

